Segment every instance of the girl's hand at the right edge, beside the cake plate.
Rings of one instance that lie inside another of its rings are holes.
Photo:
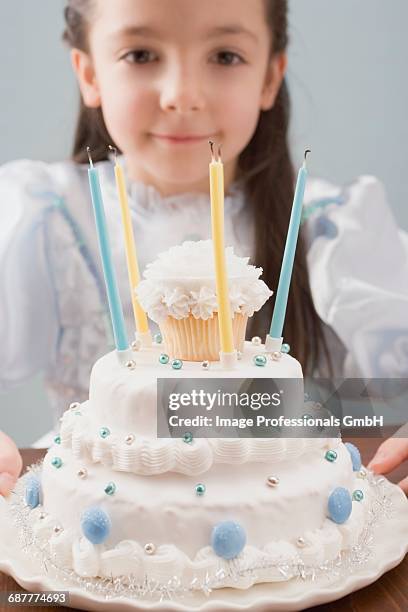
[[[380,444],[367,467],[376,474],[388,474],[406,459],[408,459],[408,424]],[[398,485],[408,494],[408,476]]]

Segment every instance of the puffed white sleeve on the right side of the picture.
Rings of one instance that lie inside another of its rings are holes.
[[[345,376],[408,376],[408,235],[383,185],[311,182],[305,206],[316,310],[347,349]]]

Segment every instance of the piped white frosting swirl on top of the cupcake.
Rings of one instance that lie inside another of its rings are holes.
[[[262,268],[238,257],[232,247],[225,249],[228,289],[232,312],[252,316],[272,295],[260,280]],[[211,240],[187,241],[147,265],[145,280],[137,286],[141,306],[160,323],[167,316],[184,319],[209,319],[217,311],[213,243]]]

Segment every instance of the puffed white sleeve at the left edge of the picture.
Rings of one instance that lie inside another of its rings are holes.
[[[0,391],[46,367],[58,331],[44,237],[49,166],[0,168]]]

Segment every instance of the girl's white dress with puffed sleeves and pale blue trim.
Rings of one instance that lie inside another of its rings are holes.
[[[114,172],[110,161],[96,166],[130,337]],[[133,183],[129,202],[141,270],[174,244],[210,237],[206,194],[163,198]],[[92,364],[112,347],[87,166],[5,164],[0,203],[0,391],[43,371],[58,417],[86,398]],[[408,235],[382,185],[368,176],[342,188],[309,179],[302,231],[335,375],[408,376]],[[239,255],[254,252],[252,220],[236,187],[225,201],[225,232]]]

